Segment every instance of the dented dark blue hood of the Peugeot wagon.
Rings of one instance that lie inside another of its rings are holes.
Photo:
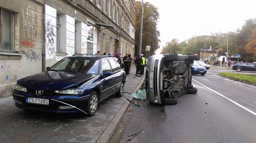
[[[95,76],[86,73],[45,71],[21,78],[17,83],[31,89],[63,90],[86,82]]]

